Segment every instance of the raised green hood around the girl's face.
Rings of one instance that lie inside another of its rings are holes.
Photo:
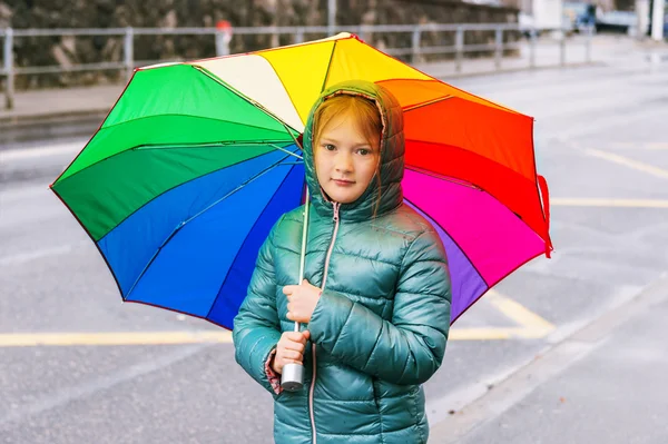
[[[401,180],[404,171],[404,134],[403,114],[394,96],[384,87],[363,80],[348,80],[327,88],[314,103],[306,127],[304,129],[304,166],[306,184],[311,194],[311,201],[315,210],[324,216],[332,217],[334,208],[327,201],[315,174],[313,161],[313,116],[317,107],[328,98],[337,95],[362,96],[376,103],[381,111],[383,134],[381,136],[381,186],[375,177],[357,200],[342,204],[340,217],[342,220],[369,220],[374,215],[374,209],[380,197],[376,216],[381,216],[397,208],[403,200]]]

